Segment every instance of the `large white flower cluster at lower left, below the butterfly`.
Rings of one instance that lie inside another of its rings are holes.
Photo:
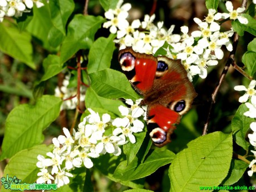
[[[116,156],[121,154],[121,145],[127,142],[135,143],[133,135],[135,132],[141,132],[144,124],[138,118],[145,116],[145,110],[139,107],[141,100],[136,103],[127,100],[130,108],[119,106],[122,118],[111,119],[109,114],[103,114],[102,117],[95,111],[88,109],[90,115],[86,116],[78,125],[78,130],[73,130],[73,134],[64,127],[64,135],[53,138],[54,145],[52,152],[47,152],[47,157],[38,155],[37,167],[40,176],[37,183],[54,183],[58,187],[70,182],[69,173],[72,169],[85,166],[92,168],[91,158],[97,158],[100,155],[109,153]],[[129,138],[129,140],[127,140]]]

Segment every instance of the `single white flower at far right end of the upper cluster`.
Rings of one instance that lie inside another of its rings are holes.
[[[240,13],[244,12],[245,7],[239,7],[239,8],[237,8],[237,10],[234,10],[232,2],[227,1],[226,2],[226,8],[229,11],[229,13],[222,13],[222,17],[224,19],[226,19],[226,18],[230,18],[230,19],[233,19],[233,20],[238,19],[238,21],[242,24],[247,24],[248,23],[247,18],[241,16],[241,14],[240,14]]]

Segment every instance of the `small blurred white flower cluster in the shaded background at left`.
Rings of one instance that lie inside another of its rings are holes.
[[[76,87],[68,87],[70,84],[70,73],[65,76],[62,86],[55,88],[55,96],[60,97],[63,100],[63,103],[61,105],[61,110],[71,110],[76,109],[77,106],[77,89]],[[81,86],[80,87],[80,101],[85,101],[85,91],[86,87]]]

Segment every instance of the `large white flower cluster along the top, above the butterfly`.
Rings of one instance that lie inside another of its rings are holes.
[[[229,13],[218,13],[215,9],[209,9],[208,15],[203,21],[194,18],[198,24],[198,31],[188,35],[189,28],[181,27],[183,35],[173,34],[174,25],[168,30],[163,26],[163,22],[155,25],[155,15],[145,15],[144,21],[134,20],[130,25],[127,21],[128,11],[131,4],[125,3],[121,6],[122,0],[117,4],[116,9],[109,9],[105,17],[110,21],[104,23],[103,27],[110,28],[111,33],[116,33],[117,38],[114,40],[120,44],[120,49],[132,47],[134,51],[140,53],[155,53],[165,42],[169,44],[166,50],[166,56],[172,59],[180,59],[184,68],[188,72],[190,81],[194,75],[201,78],[207,76],[206,68],[218,64],[224,56],[221,50],[222,46],[232,51],[232,43],[229,38],[233,36],[233,29],[230,31],[220,32],[219,21],[223,19],[238,19],[239,22],[247,24],[247,18],[241,13],[245,8],[233,9],[230,1],[226,3]]]

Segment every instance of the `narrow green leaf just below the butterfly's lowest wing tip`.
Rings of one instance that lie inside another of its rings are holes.
[[[140,163],[137,157],[127,166],[127,162],[122,161],[113,176],[122,181],[144,178],[154,173],[161,166],[171,163],[174,157],[175,154],[173,152],[156,148],[149,151],[143,163]]]

